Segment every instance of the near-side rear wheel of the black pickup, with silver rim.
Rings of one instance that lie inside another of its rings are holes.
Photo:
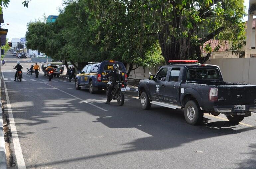
[[[199,105],[191,100],[188,101],[184,108],[185,120],[188,124],[197,125],[203,120],[203,112],[201,111]]]

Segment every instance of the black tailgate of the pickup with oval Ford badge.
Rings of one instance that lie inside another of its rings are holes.
[[[220,105],[248,105],[256,103],[255,85],[218,86]]]

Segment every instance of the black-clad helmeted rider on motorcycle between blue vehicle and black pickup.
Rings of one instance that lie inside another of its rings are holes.
[[[105,75],[103,78],[108,78],[108,77],[112,77],[112,85],[109,85],[108,89],[107,89],[107,102],[105,104],[109,105],[109,101],[111,98],[111,92],[112,90],[115,88],[115,86],[117,85],[117,82],[121,82],[123,81],[123,76],[122,76],[122,72],[119,70],[119,65],[118,64],[113,64],[113,70],[111,70],[111,72],[109,72],[107,75]]]

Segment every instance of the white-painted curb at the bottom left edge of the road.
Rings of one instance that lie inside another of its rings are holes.
[[[0,169],[6,169],[6,150],[5,150],[5,141],[4,141],[4,126],[3,126],[3,112],[2,112],[2,98],[0,96]]]

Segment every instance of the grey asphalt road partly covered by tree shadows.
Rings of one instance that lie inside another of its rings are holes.
[[[26,81],[14,82],[16,61],[24,69],[31,63],[5,59],[2,80],[21,148],[14,157],[22,153],[26,168],[256,168],[255,113],[240,124],[205,114],[203,125],[192,126],[183,110],[141,109],[135,92],[126,92],[124,106],[105,105],[105,91],[76,90],[61,78],[49,82],[42,71],[38,79],[24,71]]]

